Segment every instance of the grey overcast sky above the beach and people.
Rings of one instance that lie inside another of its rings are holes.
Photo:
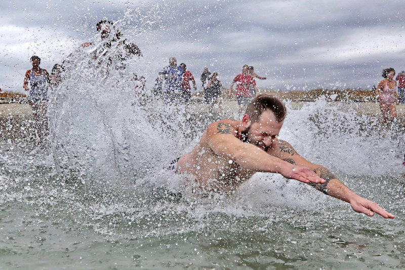
[[[55,63],[95,40],[101,19],[118,21],[143,52],[151,86],[168,58],[199,82],[205,66],[225,87],[244,64],[259,88],[371,88],[386,67],[405,70],[405,1],[39,1],[0,2],[0,88],[22,91],[29,58]],[[401,12],[402,11],[402,12]]]

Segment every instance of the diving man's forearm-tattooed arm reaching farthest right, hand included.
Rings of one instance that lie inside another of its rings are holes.
[[[362,198],[361,196],[355,194],[346,185],[344,185],[333,173],[331,173],[327,168],[310,163],[303,157],[301,157],[297,151],[286,141],[278,141],[277,157],[287,161],[291,164],[297,164],[301,166],[306,166],[313,170],[320,178],[325,179],[326,182],[323,184],[309,183],[319,191],[335,197],[339,200],[347,202],[351,205],[354,211],[358,213],[363,213],[368,216],[374,216],[377,213],[384,218],[394,218],[395,216],[385,211],[377,203]]]

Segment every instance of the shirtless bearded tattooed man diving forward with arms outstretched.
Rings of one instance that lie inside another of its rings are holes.
[[[349,203],[356,212],[394,218],[375,202],[355,194],[327,168],[310,163],[290,143],[279,140],[286,114],[285,105],[277,98],[257,96],[241,121],[212,123],[194,149],[179,159],[177,172],[193,175],[201,190],[225,193],[256,172],[279,173]]]

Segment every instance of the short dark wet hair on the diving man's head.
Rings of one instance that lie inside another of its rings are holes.
[[[252,99],[246,108],[246,114],[249,115],[252,122],[259,122],[260,115],[265,110],[271,110],[277,122],[281,122],[286,118],[287,108],[284,103],[276,97],[261,94]]]

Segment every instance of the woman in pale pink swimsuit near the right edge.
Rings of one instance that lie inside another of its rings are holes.
[[[394,80],[395,69],[392,67],[384,69],[382,76],[385,79],[378,84],[376,95],[383,116],[382,124],[388,127],[396,119],[395,105],[398,101],[398,92],[396,91],[396,81]]]

